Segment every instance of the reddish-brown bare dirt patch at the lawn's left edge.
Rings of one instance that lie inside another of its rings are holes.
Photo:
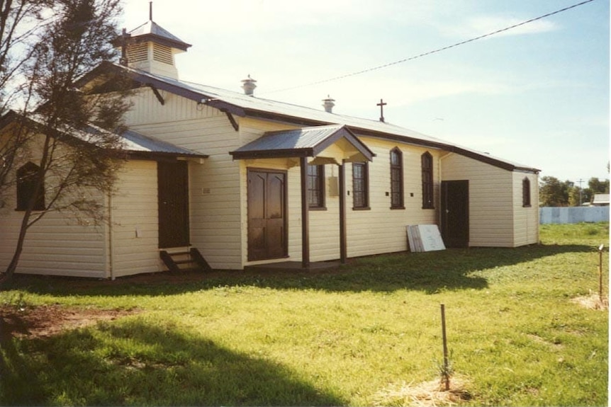
[[[93,325],[97,321],[112,321],[138,312],[138,309],[79,309],[59,305],[0,306],[0,341],[13,337],[48,337],[67,329]]]

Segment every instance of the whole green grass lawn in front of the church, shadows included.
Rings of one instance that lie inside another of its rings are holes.
[[[315,274],[18,276],[0,292],[5,326],[42,309],[92,323],[3,336],[0,404],[425,404],[410,396],[440,377],[445,304],[452,380],[469,395],[456,403],[607,406],[608,313],[574,299],[598,294],[601,243],[607,296],[609,226],[542,225],[541,238]]]

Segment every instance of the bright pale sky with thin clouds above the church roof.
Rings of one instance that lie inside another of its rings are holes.
[[[386,122],[586,188],[609,178],[608,0],[417,57],[581,1],[155,0],[152,20],[192,45],[180,79],[371,120],[383,99]]]

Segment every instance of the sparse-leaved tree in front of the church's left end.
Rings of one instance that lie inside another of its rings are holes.
[[[26,4],[30,5],[28,18],[23,16]],[[26,231],[48,212],[69,211],[84,222],[103,222],[100,197],[111,193],[122,164],[118,132],[129,108],[124,97],[129,86],[126,78],[117,76],[113,93],[99,95],[76,87],[86,72],[118,57],[111,46],[118,33],[118,0],[0,0],[0,6],[5,17],[11,16],[6,17],[9,23],[0,25],[0,38],[20,31],[19,25],[26,21],[35,23],[30,30],[21,28],[28,33],[19,42],[28,58],[17,60],[6,50],[5,59],[12,69],[0,71],[4,75],[0,83],[13,84],[11,101],[19,102],[17,113],[4,116],[13,120],[10,138],[5,133],[0,142],[4,163],[0,199],[11,183],[18,182],[15,173],[23,161],[34,161],[38,168],[13,260],[6,270],[10,277]],[[45,207],[33,210],[40,193],[45,196]]]

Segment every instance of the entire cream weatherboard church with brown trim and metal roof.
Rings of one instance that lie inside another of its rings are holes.
[[[108,72],[127,71],[135,87],[129,159],[116,193],[100,197],[110,222],[47,214],[17,273],[114,278],[189,256],[218,270],[308,268],[406,251],[416,224],[437,224],[449,247],[539,241],[536,168],[337,115],[331,99],[316,110],[258,98],[250,78],[244,92],[180,81],[174,55],[190,45],[153,21],[126,43],[126,64],[101,64],[78,84],[108,89]],[[13,209],[0,212],[0,269],[16,246]]]

